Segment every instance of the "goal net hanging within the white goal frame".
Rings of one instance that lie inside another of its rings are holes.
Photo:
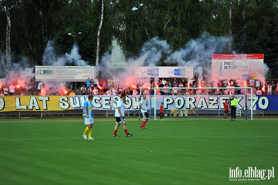
[[[255,94],[251,87],[242,88],[154,88],[150,96],[150,117],[160,120],[223,119],[224,102],[230,105],[232,96],[238,100],[236,119],[252,120]],[[163,103],[163,105],[162,105]],[[160,107],[163,107],[163,114]],[[229,109],[227,119],[231,119]]]

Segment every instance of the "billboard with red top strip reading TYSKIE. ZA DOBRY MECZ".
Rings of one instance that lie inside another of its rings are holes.
[[[263,76],[263,54],[213,54],[212,78],[255,80]]]

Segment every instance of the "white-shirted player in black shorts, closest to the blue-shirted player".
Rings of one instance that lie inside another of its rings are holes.
[[[117,102],[117,107],[116,107],[116,110],[115,110],[115,117],[116,117],[116,125],[115,125],[115,128],[114,128],[114,135],[113,137],[119,137],[117,135],[117,130],[120,126],[120,124],[123,125],[123,129],[124,129],[124,132],[125,132],[125,135],[126,137],[131,137],[133,134],[129,134],[127,129],[126,129],[126,123],[125,123],[125,119],[124,119],[124,113],[128,114],[128,112],[126,112],[124,110],[124,101],[125,101],[125,97],[126,95],[125,94],[122,94],[121,95],[121,99],[118,100]]]

